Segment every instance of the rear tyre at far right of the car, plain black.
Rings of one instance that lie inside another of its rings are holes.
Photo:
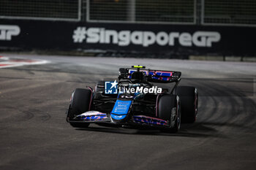
[[[176,95],[181,99],[182,123],[194,123],[197,117],[198,107],[197,88],[180,86],[176,88]]]

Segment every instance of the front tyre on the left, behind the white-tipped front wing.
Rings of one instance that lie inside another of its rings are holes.
[[[67,118],[73,119],[77,115],[89,111],[91,103],[91,90],[77,88],[72,93],[71,102],[69,104],[69,110],[67,112]],[[75,128],[86,128],[89,123],[70,123]]]

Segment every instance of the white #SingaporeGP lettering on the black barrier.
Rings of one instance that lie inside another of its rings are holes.
[[[99,43],[114,44],[118,46],[142,45],[149,47],[157,44],[159,46],[181,45],[185,47],[212,47],[213,43],[219,42],[221,35],[217,31],[195,31],[189,32],[165,32],[159,31],[116,31],[105,28],[78,27],[72,36],[75,43]]]

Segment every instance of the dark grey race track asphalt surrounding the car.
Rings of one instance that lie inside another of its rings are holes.
[[[255,169],[256,63],[5,56],[50,63],[0,69],[1,170]],[[181,85],[200,94],[196,123],[167,134],[65,121],[72,90],[135,64],[181,71]]]

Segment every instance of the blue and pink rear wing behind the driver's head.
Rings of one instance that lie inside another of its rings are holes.
[[[138,72],[138,69],[120,68],[118,79],[131,79],[132,72]],[[140,72],[144,72],[148,82],[176,82],[181,77],[181,72],[176,71],[140,69]]]

